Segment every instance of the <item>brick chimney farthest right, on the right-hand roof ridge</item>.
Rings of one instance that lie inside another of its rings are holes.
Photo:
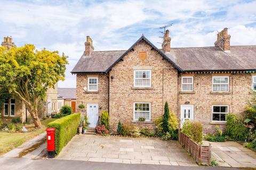
[[[215,47],[220,47],[224,52],[230,50],[230,35],[228,35],[228,29],[224,28],[217,35],[217,41],[215,41]]]

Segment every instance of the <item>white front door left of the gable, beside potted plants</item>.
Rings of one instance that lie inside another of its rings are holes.
[[[98,121],[98,104],[87,104],[87,118],[90,128],[95,128]]]

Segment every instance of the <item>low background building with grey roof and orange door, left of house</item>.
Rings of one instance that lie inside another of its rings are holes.
[[[72,107],[72,112],[76,112],[76,88],[58,88],[58,113],[62,106]]]

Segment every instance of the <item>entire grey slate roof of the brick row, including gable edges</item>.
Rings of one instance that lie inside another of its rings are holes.
[[[181,72],[256,70],[256,46],[230,46],[230,53],[223,52],[219,47],[171,48],[170,53],[163,53],[142,35],[128,50],[83,55],[71,73],[108,72],[142,39]]]

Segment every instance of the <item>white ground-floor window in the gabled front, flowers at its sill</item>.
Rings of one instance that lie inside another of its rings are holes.
[[[139,117],[144,117],[146,121],[151,119],[151,103],[134,102],[133,104],[133,119],[139,120]]]

